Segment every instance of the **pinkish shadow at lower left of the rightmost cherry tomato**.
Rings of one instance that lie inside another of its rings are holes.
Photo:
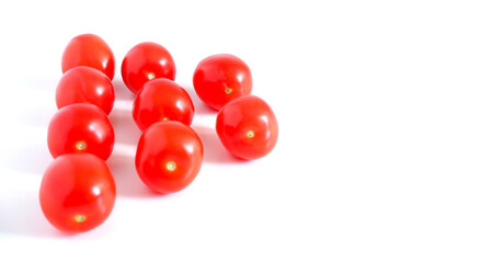
[[[239,159],[230,155],[222,146],[222,142],[220,142],[214,128],[198,125],[193,125],[192,128],[197,133],[198,137],[201,137],[204,146],[204,161],[206,163],[234,164],[248,162],[248,160]]]

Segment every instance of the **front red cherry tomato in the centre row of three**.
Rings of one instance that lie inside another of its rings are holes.
[[[140,136],[135,165],[147,186],[167,194],[191,184],[203,157],[198,135],[182,123],[167,121],[152,124]]]

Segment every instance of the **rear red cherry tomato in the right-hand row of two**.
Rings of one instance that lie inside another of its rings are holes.
[[[194,89],[201,100],[218,111],[228,102],[251,94],[251,70],[236,56],[214,55],[197,65]]]

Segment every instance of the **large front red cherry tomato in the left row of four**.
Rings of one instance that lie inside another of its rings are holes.
[[[115,182],[105,161],[90,153],[55,159],[42,178],[39,201],[57,229],[84,232],[101,225],[115,203]]]

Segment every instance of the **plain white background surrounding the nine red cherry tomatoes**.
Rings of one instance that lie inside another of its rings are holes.
[[[2,1],[0,262],[480,262],[479,1]],[[38,187],[51,161],[61,53],[95,33],[114,50],[117,183],[110,218],[64,235]],[[152,194],[119,66],[157,42],[196,106],[205,146],[186,190]],[[201,59],[230,53],[279,123],[239,161],[196,98]]]

